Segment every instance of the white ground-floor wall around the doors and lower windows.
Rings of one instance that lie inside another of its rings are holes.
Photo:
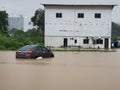
[[[82,48],[104,48],[105,47],[105,38],[101,38],[103,40],[103,44],[93,44],[92,38],[89,38],[89,44],[84,44],[83,40],[86,39],[86,37],[72,37],[73,40],[71,40],[71,37],[45,37],[45,45],[46,46],[52,46],[52,47],[64,47],[64,38],[67,38],[67,46],[77,46]],[[109,39],[109,46],[108,48],[111,48],[111,38]],[[77,40],[77,43],[75,43],[75,40]]]

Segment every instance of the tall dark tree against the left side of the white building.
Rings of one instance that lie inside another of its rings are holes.
[[[44,10],[37,9],[34,16],[31,18],[33,26],[37,26],[38,30],[44,31]]]

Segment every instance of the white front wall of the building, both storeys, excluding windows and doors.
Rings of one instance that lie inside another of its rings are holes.
[[[62,18],[56,18],[56,13],[62,13]],[[84,13],[84,18],[78,18],[78,13]],[[101,13],[101,18],[95,18],[95,13]],[[46,6],[45,45],[61,46],[65,37],[68,38],[68,45],[83,47],[92,46],[82,44],[86,37],[108,38],[110,41],[111,14],[112,8],[109,6]],[[71,37],[77,38],[77,44],[69,40]],[[104,43],[99,46],[104,48]]]

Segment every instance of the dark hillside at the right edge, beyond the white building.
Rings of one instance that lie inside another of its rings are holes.
[[[120,40],[120,24],[112,22],[112,39]]]

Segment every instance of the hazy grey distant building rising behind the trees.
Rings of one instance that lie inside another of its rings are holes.
[[[24,29],[24,18],[22,15],[17,16],[17,17],[9,17],[8,18],[8,29],[19,29],[23,30]]]

